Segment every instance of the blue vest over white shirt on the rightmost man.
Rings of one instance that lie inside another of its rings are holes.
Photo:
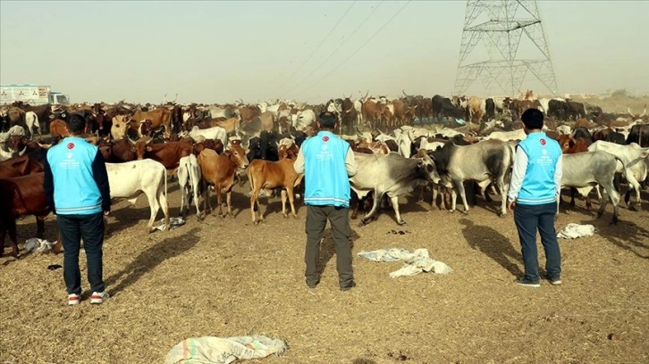
[[[516,203],[538,205],[556,202],[554,172],[561,158],[561,147],[544,132],[530,133],[518,143],[527,154],[527,171]]]

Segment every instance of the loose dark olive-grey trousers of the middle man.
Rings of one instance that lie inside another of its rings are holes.
[[[347,287],[354,281],[354,270],[351,268],[351,227],[350,209],[335,206],[307,206],[307,251],[304,261],[307,263],[305,277],[308,284],[315,285],[320,280],[317,263],[320,261],[320,240],[325,234],[327,219],[332,225],[333,242],[336,246],[336,268],[341,287]]]

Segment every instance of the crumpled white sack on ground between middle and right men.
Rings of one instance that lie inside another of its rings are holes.
[[[433,271],[436,274],[448,274],[453,271],[442,261],[431,259],[427,249],[415,249],[414,252],[403,248],[379,249],[373,252],[358,252],[358,256],[370,261],[406,261],[408,264],[390,273],[392,278],[415,276],[423,271]]]

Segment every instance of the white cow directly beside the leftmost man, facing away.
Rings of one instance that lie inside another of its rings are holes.
[[[111,198],[126,198],[135,204],[139,195],[146,194],[151,208],[148,231],[153,231],[160,207],[164,213],[164,227],[169,227],[169,204],[167,203],[167,170],[159,161],[145,159],[124,163],[105,163]]]

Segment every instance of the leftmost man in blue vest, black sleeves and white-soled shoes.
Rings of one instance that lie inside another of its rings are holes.
[[[47,203],[56,214],[63,243],[63,280],[68,304],[80,302],[80,239],[86,251],[90,303],[108,298],[103,279],[104,215],[111,209],[105,161],[99,148],[80,135],[86,120],[72,114],[67,122],[70,136],[47,151],[44,165]]]

